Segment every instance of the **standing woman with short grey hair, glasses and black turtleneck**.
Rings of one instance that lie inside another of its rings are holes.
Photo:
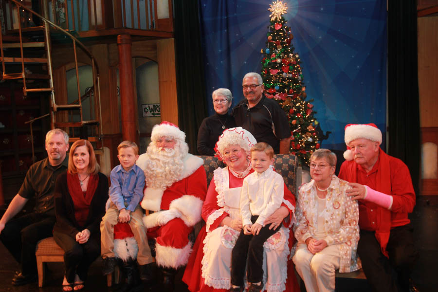
[[[198,131],[199,155],[215,155],[215,145],[224,129],[236,127],[234,117],[228,113],[233,101],[231,91],[219,88],[213,91],[213,108],[216,113],[205,118]]]

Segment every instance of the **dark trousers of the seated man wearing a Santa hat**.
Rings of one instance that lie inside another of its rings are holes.
[[[391,229],[386,251],[389,258],[382,254],[373,231],[360,231],[357,252],[373,291],[409,291],[409,277],[418,255],[410,224]]]

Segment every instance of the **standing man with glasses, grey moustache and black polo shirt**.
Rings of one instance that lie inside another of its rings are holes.
[[[263,96],[260,74],[247,73],[242,89],[245,99],[233,109],[237,127],[248,130],[257,142],[271,145],[275,153],[287,154],[291,144],[288,117],[274,100]]]

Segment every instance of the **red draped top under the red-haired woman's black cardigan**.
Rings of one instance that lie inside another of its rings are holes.
[[[81,227],[84,227],[85,222],[87,221],[91,200],[96,192],[98,183],[99,176],[90,174],[87,191],[84,196],[78,175],[67,172],[67,187],[73,200],[74,218],[76,219],[77,224]]]

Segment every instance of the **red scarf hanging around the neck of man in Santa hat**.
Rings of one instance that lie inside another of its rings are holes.
[[[389,165],[389,156],[379,148],[380,162],[377,166],[376,190],[384,194],[391,194],[391,169]],[[350,183],[357,183],[357,164],[348,165],[345,172],[346,181]],[[388,257],[386,245],[389,240],[389,233],[391,231],[391,211],[381,206],[377,206],[377,230],[375,236],[380,243],[383,255]]]

